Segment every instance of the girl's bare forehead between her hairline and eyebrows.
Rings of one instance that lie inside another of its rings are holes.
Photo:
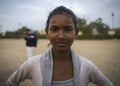
[[[50,19],[50,24],[63,23],[63,24],[74,24],[71,16],[66,14],[55,14]]]

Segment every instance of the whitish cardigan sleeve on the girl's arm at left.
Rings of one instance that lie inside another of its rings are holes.
[[[25,79],[30,79],[30,67],[28,60],[24,62],[7,80],[6,86],[19,86]]]

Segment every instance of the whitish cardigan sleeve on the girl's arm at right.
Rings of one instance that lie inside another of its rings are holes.
[[[97,86],[113,86],[112,82],[90,62],[90,81]]]

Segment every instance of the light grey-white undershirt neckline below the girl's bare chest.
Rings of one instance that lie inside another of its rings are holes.
[[[65,81],[52,81],[51,86],[74,86],[73,78]]]

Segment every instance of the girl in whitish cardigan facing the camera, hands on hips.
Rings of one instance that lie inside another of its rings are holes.
[[[18,86],[31,79],[33,86],[113,86],[88,59],[71,49],[78,30],[76,16],[63,6],[48,16],[46,34],[52,47],[43,54],[25,61],[8,79],[7,86]]]

